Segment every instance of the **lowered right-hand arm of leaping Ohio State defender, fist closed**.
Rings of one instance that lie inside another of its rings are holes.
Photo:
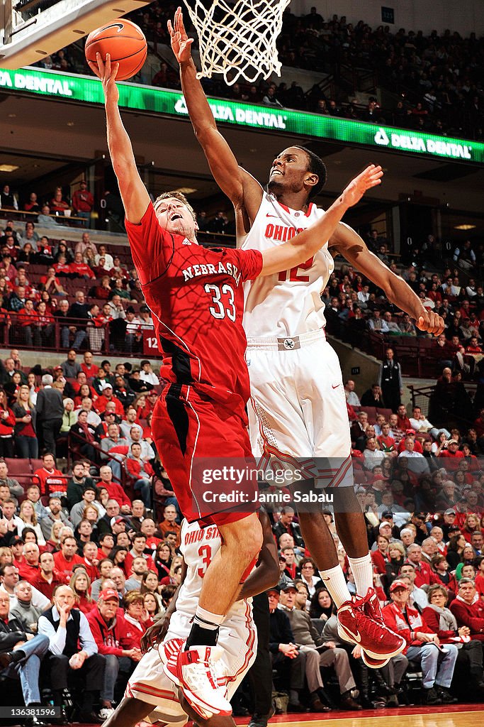
[[[380,257],[373,254],[352,228],[344,223],[337,226],[329,240],[329,247],[337,250],[358,272],[382,289],[387,299],[415,319],[417,328],[440,335],[443,319],[431,310],[425,310],[419,297],[398,275],[387,268]]]

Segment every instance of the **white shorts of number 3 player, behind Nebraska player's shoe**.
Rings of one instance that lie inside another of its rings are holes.
[[[245,619],[229,619],[220,627],[218,646],[223,656],[215,663],[218,684],[226,686],[227,699],[234,696],[237,687],[252,666],[257,652],[257,630],[252,619],[252,608],[246,604]],[[171,617],[166,639],[186,638],[192,627],[192,616],[176,611]],[[154,707],[149,715],[153,723],[163,722],[171,727],[183,727],[188,720],[182,710],[178,687],[165,672],[157,647],[141,658],[126,687],[126,696],[141,699]]]

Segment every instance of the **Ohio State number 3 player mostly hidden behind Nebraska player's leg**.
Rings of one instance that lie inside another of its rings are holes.
[[[263,546],[258,563],[247,577],[221,625],[218,638],[218,660],[214,664],[214,678],[231,699],[237,687],[250,669],[257,651],[257,632],[252,618],[252,596],[276,585],[279,579],[277,548],[266,513],[259,515],[263,528]],[[165,653],[168,641],[186,639],[190,622],[197,608],[205,571],[221,547],[221,535],[216,526],[202,529],[199,523],[181,526],[181,553],[184,558],[181,585],[165,614],[163,624],[155,624],[144,636],[149,650],[136,666],[126,688],[124,699],[104,727],[134,727],[150,715],[158,725],[183,727],[188,716],[194,718],[200,727],[210,727],[210,715],[200,705],[195,715],[186,703],[180,702],[176,684],[163,671],[164,662],[169,659]],[[165,636],[165,641],[160,643]],[[173,643],[171,641],[171,643]],[[223,649],[221,648],[223,647]],[[230,716],[216,718],[216,727],[232,727]],[[214,726],[215,727],[215,726]]]

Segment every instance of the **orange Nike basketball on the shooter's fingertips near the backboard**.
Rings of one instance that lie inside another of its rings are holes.
[[[109,53],[111,63],[119,63],[118,81],[135,76],[144,64],[147,52],[147,41],[141,28],[123,17],[89,33],[84,47],[86,60],[92,63],[96,63],[97,53],[104,61]]]

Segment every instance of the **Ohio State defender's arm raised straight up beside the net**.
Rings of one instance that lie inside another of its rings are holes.
[[[236,207],[244,207],[251,220],[261,204],[261,185],[237,163],[231,148],[218,131],[207,97],[197,79],[192,60],[193,39],[189,38],[181,8],[177,8],[173,24],[168,21],[171,48],[180,65],[181,89],[197,140],[207,157],[210,171],[218,186]]]

